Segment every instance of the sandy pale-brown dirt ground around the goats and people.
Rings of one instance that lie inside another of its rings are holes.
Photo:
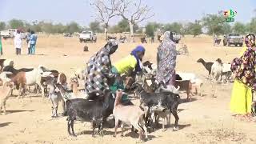
[[[213,46],[211,38],[185,37],[182,43],[189,48],[189,56],[178,56],[177,70],[193,72],[198,78],[204,80],[202,86],[203,96],[194,96],[192,102],[185,102],[178,106],[179,128],[172,130],[174,118],[168,129],[161,129],[150,133],[150,141],[145,143],[255,143],[255,122],[248,122],[234,118],[230,114],[229,102],[232,84],[211,85],[206,80],[207,72],[202,64],[197,63],[198,58],[207,62],[222,58],[223,62],[230,62],[238,56],[240,47]],[[26,55],[26,44],[23,42],[22,55],[14,54],[12,40],[2,40],[4,55],[1,58],[14,59],[14,66],[35,67],[42,64],[50,69],[64,72],[67,76],[78,67],[85,67],[86,61],[94,52],[104,45],[104,42],[79,43],[78,38],[43,37],[39,36],[36,48],[37,55]],[[112,56],[112,61],[130,54],[130,51],[139,43],[120,44],[117,52]],[[83,52],[83,46],[89,46],[89,52]],[[155,62],[156,51],[159,43],[145,44],[146,57],[144,60]],[[181,44],[178,44],[178,48]],[[186,98],[185,94],[181,94]],[[51,118],[51,102],[41,96],[32,95],[21,102],[11,97],[6,102],[6,115],[0,115],[0,143],[90,143],[90,144],[117,144],[135,143],[138,134],[126,129],[125,137],[113,138],[113,128],[105,128],[104,137],[91,137],[90,124],[75,122],[74,130],[78,137],[73,138],[67,134],[66,118]],[[62,112],[60,108],[59,112]],[[160,128],[161,126],[159,126]],[[118,129],[118,132],[121,130]]]

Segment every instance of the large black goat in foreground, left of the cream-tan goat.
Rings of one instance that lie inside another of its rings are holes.
[[[59,85],[59,84],[58,84]],[[62,93],[62,91],[61,91]],[[94,101],[83,98],[69,99],[66,101],[67,126],[68,133],[72,136],[74,134],[74,120],[91,122],[93,126],[93,134],[95,128],[98,127],[98,132],[103,129],[103,119],[106,116],[106,111],[110,107],[110,91],[104,92],[104,96]],[[70,132],[72,129],[72,134]]]

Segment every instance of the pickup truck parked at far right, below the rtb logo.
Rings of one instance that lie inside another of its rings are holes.
[[[223,38],[223,45],[224,46],[242,46],[243,45],[243,37],[241,34],[238,33],[230,33],[227,35],[224,35]]]

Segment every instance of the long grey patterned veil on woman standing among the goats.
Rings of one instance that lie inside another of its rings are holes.
[[[172,38],[170,31],[166,31],[162,43],[158,47],[158,82],[169,82],[174,74],[177,54],[175,43],[171,40]]]

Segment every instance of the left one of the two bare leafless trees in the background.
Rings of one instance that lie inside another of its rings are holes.
[[[119,15],[118,2],[118,0],[93,0],[90,4],[96,10],[98,21],[104,23],[106,38],[110,19]]]

